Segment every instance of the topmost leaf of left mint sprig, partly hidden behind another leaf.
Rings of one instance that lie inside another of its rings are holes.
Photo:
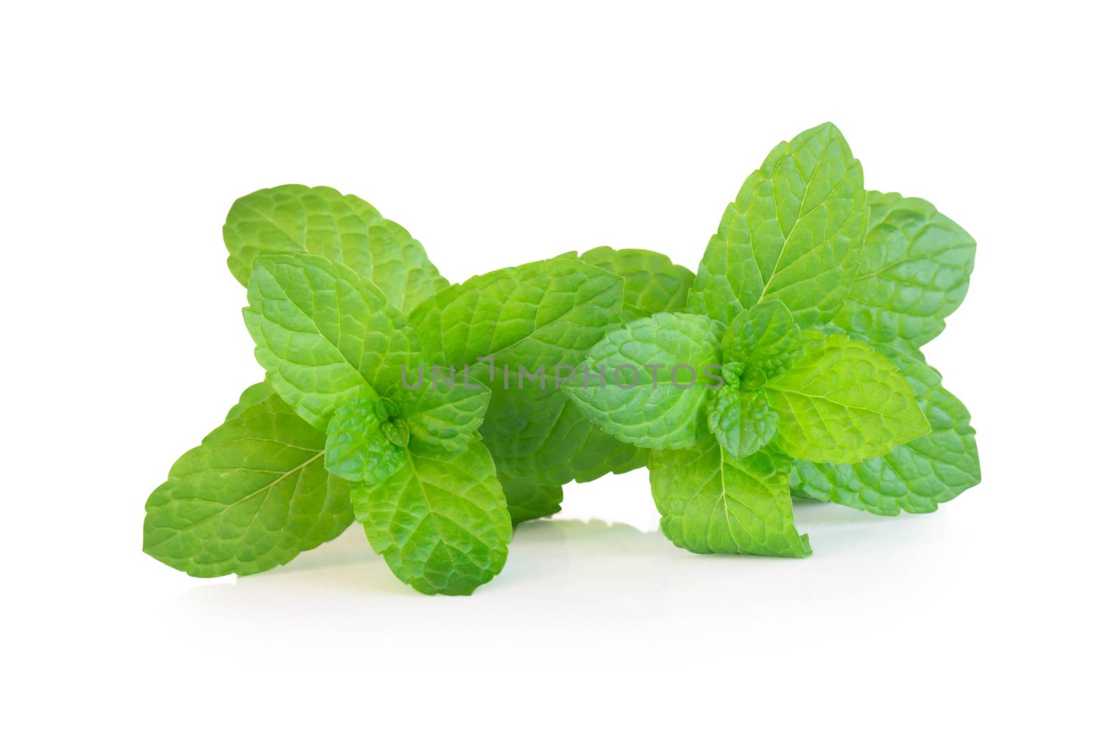
[[[289,184],[245,195],[233,203],[222,234],[230,270],[243,286],[258,256],[290,252],[347,265],[405,312],[448,286],[408,231],[330,187]]]

